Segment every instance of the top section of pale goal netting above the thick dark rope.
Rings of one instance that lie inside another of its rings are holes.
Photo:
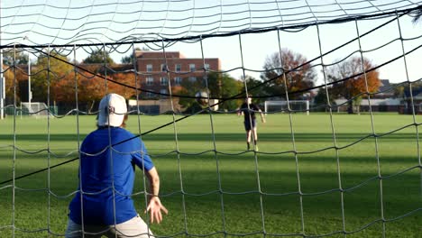
[[[5,1],[2,44],[22,42],[28,36],[36,45],[195,38],[393,15],[418,5],[409,0]]]

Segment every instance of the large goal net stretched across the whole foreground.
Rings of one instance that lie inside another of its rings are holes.
[[[63,237],[69,201],[105,192],[132,197],[154,237],[417,236],[420,9],[403,0],[1,1],[0,109],[13,114],[0,120],[0,237]],[[380,91],[374,78],[386,76],[395,83]],[[81,143],[109,93],[131,100],[125,129],[160,172],[162,224],[141,212],[151,191],[138,167],[128,194],[113,181],[79,189]],[[406,114],[372,112],[374,97],[390,96]],[[367,110],[335,113],[338,97]],[[254,109],[261,122],[248,120]]]

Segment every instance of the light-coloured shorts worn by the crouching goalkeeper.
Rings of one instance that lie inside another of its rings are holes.
[[[100,238],[102,235],[110,238],[124,238],[124,237],[137,237],[148,238],[154,237],[148,224],[142,220],[141,216],[137,215],[121,224],[112,225],[84,225],[85,236],[82,236],[82,225],[74,223],[71,219],[68,221],[68,228],[66,230],[66,238]]]

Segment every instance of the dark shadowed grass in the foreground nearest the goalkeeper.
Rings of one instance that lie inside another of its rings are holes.
[[[223,230],[222,217],[224,217],[225,231],[253,233],[262,231],[263,214],[267,232],[300,233],[300,213],[303,211],[307,233],[324,234],[341,230],[342,207],[348,231],[359,229],[381,218],[381,184],[378,179],[345,192],[342,206],[341,193],[338,190],[328,191],[339,187],[336,170],[326,170],[326,167],[332,167],[328,162],[332,159],[327,157],[309,159],[307,166],[312,169],[299,172],[301,191],[321,193],[300,198],[294,160],[286,162],[274,159],[276,158],[271,156],[260,157],[258,178],[254,160],[248,156],[225,157],[219,164],[219,173],[216,172],[216,162],[212,157],[182,158],[181,172],[177,169],[177,160],[161,158],[157,161],[161,175],[161,201],[170,209],[170,215],[165,216],[163,224],[154,224],[151,229],[155,233],[169,235],[185,232],[186,225],[189,233],[213,233]],[[369,160],[343,159],[350,163]],[[404,158],[397,160],[402,161]],[[33,163],[36,163],[36,160],[32,160],[32,168],[36,167]],[[40,168],[42,164],[39,164]],[[0,177],[3,178],[8,174],[8,170],[2,167]],[[31,168],[26,168],[25,163],[16,168],[17,173],[30,171]],[[368,168],[346,170],[342,172],[342,179],[344,184],[353,185],[374,175],[376,170]],[[392,219],[405,215],[388,224],[391,230],[398,233],[398,237],[411,237],[418,232],[422,210],[415,214],[406,214],[421,208],[418,197],[419,182],[420,177],[416,170],[383,180],[382,206],[385,217]],[[142,184],[142,172],[137,169],[135,192],[143,191]],[[47,172],[42,172],[16,180],[15,186],[28,189],[50,188],[52,193],[59,196],[69,195],[78,187],[78,162],[51,169],[50,177]],[[220,187],[224,193],[220,193]],[[15,189],[14,195],[11,187],[0,189],[2,201],[0,226],[10,224],[14,207],[17,227],[28,229],[46,227],[46,221],[50,219],[52,230],[63,233],[71,197],[49,197],[46,189],[39,191],[28,189]],[[142,211],[143,195],[139,194],[133,198],[139,211]],[[49,210],[50,217],[48,217]],[[402,225],[402,221],[406,221],[405,226]],[[373,233],[379,233],[380,229],[378,225],[374,225],[364,229],[364,232],[371,233],[374,230]],[[25,237],[27,233],[21,234]],[[373,236],[362,234],[362,236],[377,237],[376,234]]]

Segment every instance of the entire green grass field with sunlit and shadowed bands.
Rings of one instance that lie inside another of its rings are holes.
[[[267,124],[258,125],[257,154],[245,152],[243,118],[234,114],[213,115],[213,126],[207,114],[190,116],[143,135],[170,211],[151,230],[344,237],[345,229],[347,237],[422,237],[420,151],[411,115],[334,114],[335,137],[329,114],[291,118],[290,127],[289,114],[268,114]],[[171,115],[142,115],[140,122],[131,115],[128,129],[144,133],[171,121]],[[0,182],[78,157],[78,143],[95,123],[94,116],[0,121]],[[367,137],[372,130],[377,139]],[[140,192],[139,169],[137,175]],[[0,185],[0,237],[12,237],[13,224],[14,237],[63,234],[78,161],[16,179],[14,186]],[[142,213],[143,195],[133,198]]]

